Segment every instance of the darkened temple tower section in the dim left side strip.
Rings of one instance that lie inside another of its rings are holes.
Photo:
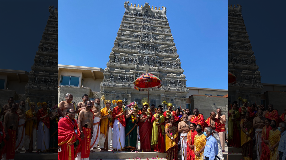
[[[57,103],[57,8],[49,6],[49,19],[25,87],[31,102]]]

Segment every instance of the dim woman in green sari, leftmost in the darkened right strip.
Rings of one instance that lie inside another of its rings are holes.
[[[239,119],[240,119],[240,113],[237,109],[237,104],[233,103],[232,109],[229,110],[228,144],[230,147],[237,147],[237,148],[240,147]]]

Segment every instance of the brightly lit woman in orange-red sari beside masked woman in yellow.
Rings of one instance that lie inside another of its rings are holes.
[[[195,160],[195,153],[194,153],[194,140],[196,132],[196,124],[190,124],[190,131],[187,135],[187,160]]]

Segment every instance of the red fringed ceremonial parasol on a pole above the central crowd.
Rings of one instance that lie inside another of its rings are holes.
[[[140,77],[138,77],[133,83],[134,83],[134,88],[137,89],[138,91],[148,91],[148,102],[149,102],[149,90],[151,91],[154,88],[160,88],[162,81],[155,75],[148,73],[147,70],[146,73],[140,75]]]

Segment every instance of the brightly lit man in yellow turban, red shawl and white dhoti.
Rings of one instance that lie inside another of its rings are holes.
[[[112,151],[124,149],[125,145],[125,108],[122,107],[122,100],[113,100],[117,106],[112,110],[113,132],[112,132]]]

